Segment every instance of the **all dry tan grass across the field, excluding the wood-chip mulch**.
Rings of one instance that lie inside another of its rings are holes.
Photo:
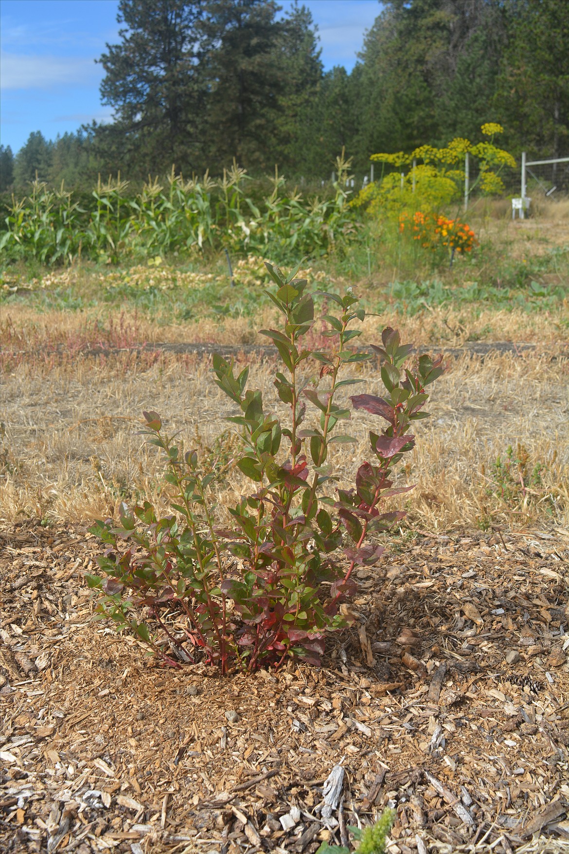
[[[497,203],[469,213],[482,235],[491,237],[491,245],[504,256],[529,259],[569,242],[569,202],[545,200],[536,218],[514,223],[505,216],[500,219]],[[569,284],[564,283],[563,269],[547,274],[556,277],[554,284]],[[343,290],[353,284],[331,270],[333,275],[325,277],[322,287],[332,284]],[[316,276],[321,278],[321,273]],[[82,295],[84,304],[101,293],[102,273],[95,268],[76,267],[50,276],[48,290],[68,285],[74,295]],[[447,271],[445,276],[447,284],[452,280],[456,286],[461,281],[459,272]],[[358,281],[354,290],[371,306],[380,298],[374,277]],[[223,417],[229,404],[212,383],[206,361],[151,353],[95,360],[84,354],[89,348],[128,349],[143,342],[266,345],[267,339],[257,330],[275,322],[269,307],[259,308],[254,319],[202,317],[177,322],[173,317],[172,312],[160,317],[149,309],[136,313],[129,307],[121,311],[101,303],[81,312],[39,312],[20,298],[4,304],[3,522],[27,516],[88,520],[113,514],[123,498],[156,497],[160,466],[154,452],[141,449],[136,436],[142,408],[157,409],[171,418],[171,429],[182,430],[184,441],[206,456],[219,452],[231,459],[235,451],[231,441],[225,442],[227,447],[213,447],[216,436],[226,429]],[[413,524],[448,529],[470,524],[523,525],[531,519],[552,518],[568,526],[569,300],[549,311],[530,313],[517,307],[498,310],[488,303],[425,308],[412,316],[387,311],[366,319],[361,342],[376,342],[385,325],[397,327],[404,340],[435,352],[467,341],[537,345],[534,354],[523,358],[496,355],[484,363],[454,361],[439,380],[430,406],[433,418],[420,424],[407,472],[417,483],[409,498]],[[319,341],[319,331],[310,337],[312,346],[327,342]],[[549,360],[552,354],[557,360]],[[254,364],[251,382],[276,405],[271,371],[266,361]],[[368,390],[380,390],[371,370],[364,374]],[[352,426],[359,442],[357,452],[338,460],[345,483],[352,481],[355,460],[367,453],[361,413]],[[517,443],[522,456],[528,454],[521,472],[523,485],[496,483],[496,477],[500,481],[496,460]],[[541,483],[527,483],[539,465]],[[246,486],[239,471],[229,466],[218,484],[220,505],[235,500]]]

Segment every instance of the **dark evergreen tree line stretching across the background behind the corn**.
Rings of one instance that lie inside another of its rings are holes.
[[[569,3],[387,0],[350,73],[325,72],[311,13],[274,0],[120,0],[119,43],[97,60],[113,120],[0,149],[2,190],[38,177],[87,187],[97,173],[220,175],[279,164],[327,178],[344,147],[361,173],[479,126],[514,155],[569,148]]]

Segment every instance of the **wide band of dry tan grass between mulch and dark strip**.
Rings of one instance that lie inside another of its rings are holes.
[[[26,517],[87,521],[113,515],[120,500],[141,494],[160,504],[159,459],[137,435],[143,408],[161,412],[169,431],[181,431],[186,447],[228,464],[216,485],[223,514],[248,483],[230,462],[235,439],[227,434],[214,446],[232,405],[213,384],[209,367],[207,360],[175,356],[146,366],[127,356],[79,357],[73,366],[51,371],[24,364],[4,377],[3,523]],[[273,370],[267,360],[254,362],[250,384],[263,389],[267,408],[278,409]],[[361,377],[366,391],[380,392],[371,366]],[[568,389],[569,360],[563,356],[451,360],[433,389],[433,418],[419,424],[404,475],[417,484],[407,504],[411,524],[430,530],[519,528],[549,519],[569,527]],[[368,455],[367,430],[376,426],[371,416],[354,413],[357,447],[336,459],[346,485],[357,460]],[[528,456],[525,482],[506,483],[504,493],[496,459],[517,443]],[[528,472],[537,465],[538,483],[529,483]]]

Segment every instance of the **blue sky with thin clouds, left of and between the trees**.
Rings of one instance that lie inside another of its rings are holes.
[[[325,68],[351,70],[363,33],[380,14],[377,0],[304,0],[318,25]],[[76,131],[111,108],[99,97],[95,59],[117,43],[117,0],[2,0],[0,140],[16,152],[32,131],[49,139]],[[281,2],[287,9],[290,0]]]

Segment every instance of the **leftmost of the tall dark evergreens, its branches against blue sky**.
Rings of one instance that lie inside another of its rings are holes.
[[[98,147],[114,170],[139,174],[186,170],[199,159],[200,22],[203,0],[120,0],[120,44],[107,44],[102,102],[111,125],[96,127]]]

